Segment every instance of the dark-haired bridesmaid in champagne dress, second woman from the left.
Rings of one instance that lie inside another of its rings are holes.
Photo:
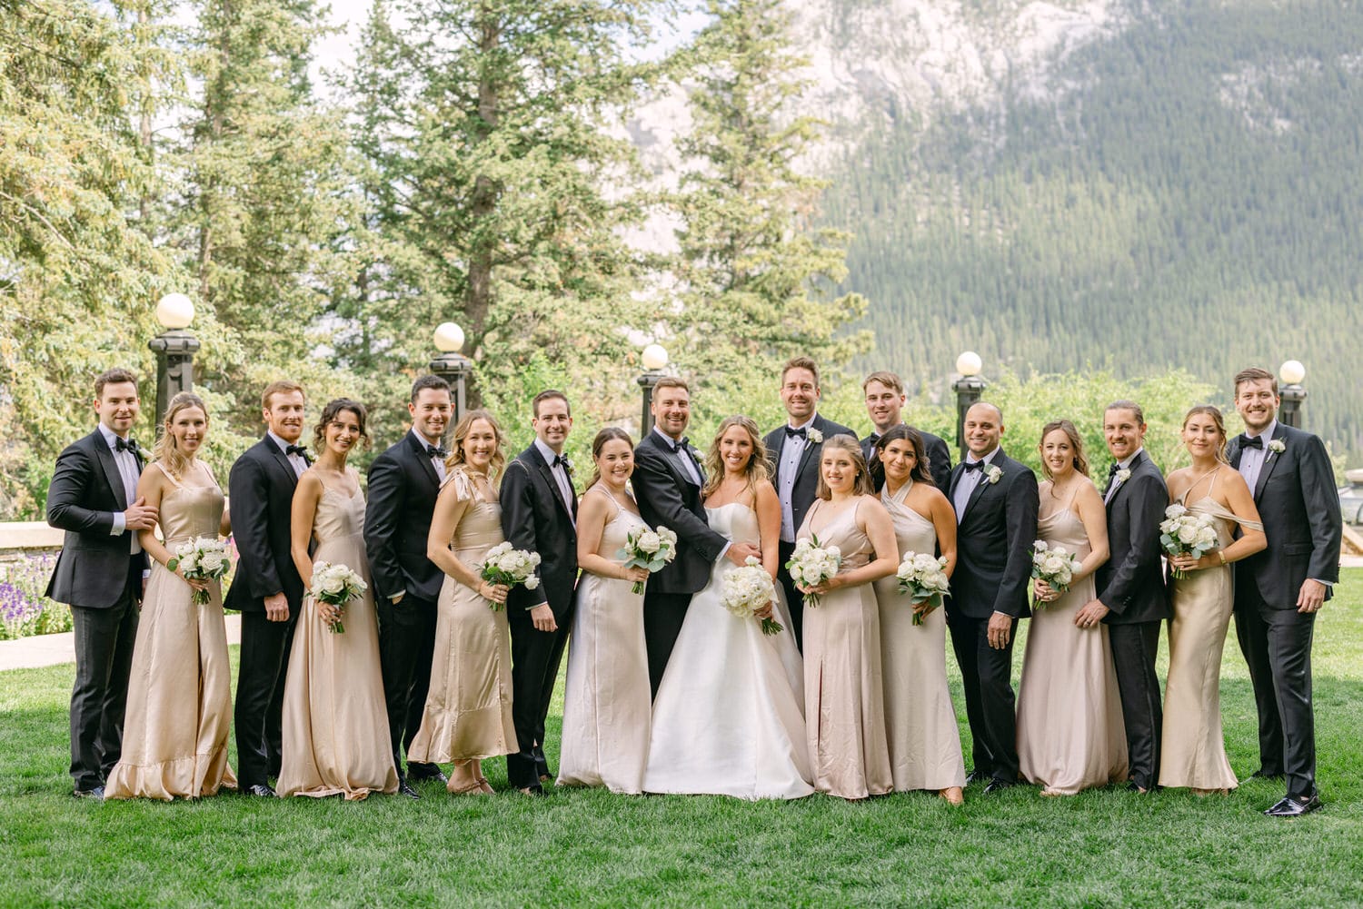
[[[293,563],[304,589],[319,561],[343,564],[371,583],[360,474],[346,467],[354,446],[369,439],[364,422],[364,405],[339,398],[323,407],[313,431],[320,452],[298,478],[290,515]],[[331,630],[337,620],[343,632]],[[339,611],[304,597],[284,688],[281,759],[279,797],[358,800],[397,792],[372,590]]]

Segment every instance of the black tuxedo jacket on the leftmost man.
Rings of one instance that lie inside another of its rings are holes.
[[[142,473],[142,455],[135,455]],[[104,435],[95,429],[57,457],[48,485],[48,523],[65,530],[48,596],[87,609],[108,609],[123,597],[132,530],[113,536],[113,515],[131,504],[123,474]],[[147,564],[146,553],[138,556]]]

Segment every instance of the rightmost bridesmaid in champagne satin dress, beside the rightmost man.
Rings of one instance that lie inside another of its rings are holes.
[[[1193,465],[1169,474],[1169,499],[1193,514],[1210,515],[1217,542],[1201,559],[1169,559],[1169,567],[1183,576],[1175,576],[1172,585],[1160,785],[1225,795],[1239,785],[1221,733],[1221,650],[1235,597],[1231,563],[1259,552],[1268,538],[1249,485],[1225,463],[1221,412],[1210,405],[1189,410],[1183,444]],[[1240,538],[1232,541],[1236,526]]]

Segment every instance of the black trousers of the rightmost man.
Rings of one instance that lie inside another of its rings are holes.
[[[1235,636],[1250,666],[1259,717],[1259,766],[1287,777],[1293,796],[1315,793],[1315,713],[1311,707],[1311,639],[1315,613],[1272,609],[1242,591]]]

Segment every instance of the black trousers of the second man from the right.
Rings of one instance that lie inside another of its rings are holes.
[[[1160,735],[1164,710],[1154,657],[1160,649],[1161,620],[1108,626],[1112,666],[1122,698],[1122,725],[1131,780],[1142,789],[1160,781]]]

